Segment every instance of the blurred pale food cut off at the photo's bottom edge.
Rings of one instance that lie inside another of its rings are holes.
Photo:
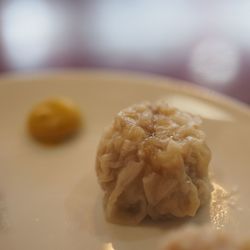
[[[209,226],[187,226],[170,233],[162,250],[250,250],[250,242]]]

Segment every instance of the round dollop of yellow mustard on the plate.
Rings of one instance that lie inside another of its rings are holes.
[[[31,135],[46,143],[61,142],[76,134],[80,127],[80,111],[67,98],[45,100],[34,106],[28,117]]]

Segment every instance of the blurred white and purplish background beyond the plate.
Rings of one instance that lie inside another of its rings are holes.
[[[250,1],[0,1],[0,72],[107,68],[250,104]]]

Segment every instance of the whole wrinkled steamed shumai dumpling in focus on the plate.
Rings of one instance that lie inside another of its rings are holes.
[[[105,131],[96,173],[108,221],[194,216],[209,197],[211,152],[201,119],[160,101],[120,111]]]

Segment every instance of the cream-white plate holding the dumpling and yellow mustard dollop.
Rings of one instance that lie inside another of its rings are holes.
[[[250,111],[243,104],[171,79],[105,72],[6,76],[0,80],[0,249],[157,249],[159,239],[195,222],[250,226]],[[82,108],[86,129],[74,140],[46,148],[27,135],[32,106],[67,96]],[[102,212],[94,170],[103,128],[121,108],[166,98],[204,117],[212,149],[212,201],[190,220],[112,225]]]

